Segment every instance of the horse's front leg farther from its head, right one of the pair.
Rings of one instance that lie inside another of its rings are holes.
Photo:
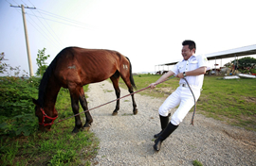
[[[80,104],[82,106],[83,111],[88,110],[87,101],[86,101],[84,91],[83,91],[82,88],[81,88],[81,91],[80,91],[79,100],[80,100]],[[86,123],[85,123],[85,125],[83,125],[83,127],[86,130],[88,130],[90,128],[92,122],[93,122],[93,119],[92,119],[92,116],[91,116],[89,111],[85,112],[84,114],[85,114],[85,118],[86,118]]]

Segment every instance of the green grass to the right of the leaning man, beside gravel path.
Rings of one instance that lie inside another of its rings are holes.
[[[208,116],[256,131],[256,79],[206,76],[198,109]]]

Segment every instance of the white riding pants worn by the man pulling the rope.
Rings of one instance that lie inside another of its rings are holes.
[[[158,109],[159,115],[168,116],[169,110],[179,105],[171,119],[173,125],[179,125],[194,105],[192,92],[195,101],[198,100],[201,93],[199,88],[191,88],[192,91],[188,87],[179,86]]]

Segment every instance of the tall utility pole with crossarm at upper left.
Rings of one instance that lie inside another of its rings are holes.
[[[24,8],[29,8],[29,7],[24,7],[23,5],[21,6],[11,6],[13,8],[22,8],[22,16],[23,16],[23,25],[24,25],[24,31],[25,31],[25,38],[26,38],[26,45],[27,45],[27,59],[28,59],[28,67],[29,67],[29,74],[30,76],[33,76],[33,67],[32,67],[32,60],[30,56],[30,49],[29,49],[29,42],[28,42],[28,35],[27,35],[27,23],[26,23],[26,16],[25,16],[25,10]],[[36,8],[30,8],[30,9],[36,9]]]

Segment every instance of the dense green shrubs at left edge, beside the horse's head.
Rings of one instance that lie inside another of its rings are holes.
[[[32,98],[37,97],[40,79],[0,78],[0,135],[27,136],[36,130]]]

